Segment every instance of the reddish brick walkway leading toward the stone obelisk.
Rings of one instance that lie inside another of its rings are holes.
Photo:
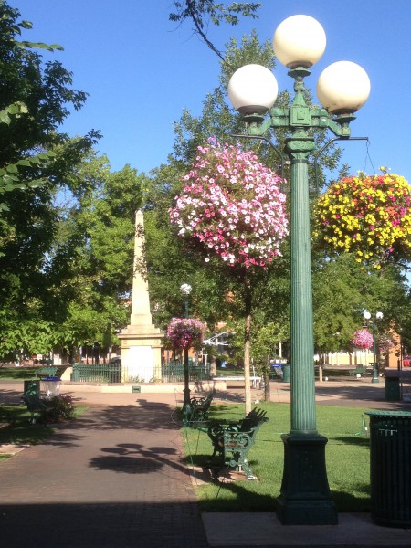
[[[207,546],[173,406],[119,399],[0,465],[2,546]]]

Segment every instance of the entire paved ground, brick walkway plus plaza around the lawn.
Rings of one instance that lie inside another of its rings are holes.
[[[62,386],[90,406],[81,418],[0,463],[2,546],[411,546],[411,530],[374,525],[367,514],[340,514],[336,526],[283,526],[262,512],[200,515],[173,419],[183,386],[174,394],[83,390]],[[0,405],[19,403],[22,392],[22,382],[1,382]],[[316,393],[319,405],[411,407],[385,402],[384,382],[370,379],[321,383]],[[242,390],[217,396],[241,401]],[[290,385],[272,383],[271,399],[290,401]]]

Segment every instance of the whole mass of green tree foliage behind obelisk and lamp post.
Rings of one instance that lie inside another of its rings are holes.
[[[272,146],[240,137],[243,122],[226,99],[228,79],[240,66],[259,63],[275,68],[271,44],[261,43],[252,32],[239,42],[230,38],[224,50],[207,36],[207,22],[236,25],[239,17],[257,13],[257,3],[174,2],[171,20],[191,21],[198,36],[221,59],[219,84],[205,95],[198,116],[185,110],[175,121],[168,163],[151,174],[139,174],[130,165],[112,173],[109,159],[93,151],[99,132],[70,137],[60,131],[69,111],[81,108],[87,99],[87,93],[72,88],[72,75],[58,60],[43,59],[45,49],[58,57],[60,47],[22,41],[22,30],[29,31],[31,24],[0,0],[2,358],[16,351],[46,353],[53,347],[73,349],[93,342],[110,348],[117,342],[116,331],[129,321],[134,213],[140,207],[153,320],[159,327],[165,329],[172,317],[183,315],[180,286],[189,283],[192,317],[205,321],[211,331],[218,322],[227,321],[236,333],[244,332],[252,288],[255,314],[249,339],[256,364],[264,364],[267,355],[275,352],[274,342],[290,337],[290,242],[283,241],[281,256],[267,270],[249,271],[245,284],[244,277],[230,271],[226,263],[224,268],[215,268],[216,258],[205,263],[204,255],[177,237],[169,216],[175,196],[182,194],[186,184],[184,174],[195,163],[198,147],[205,147],[209,138],[228,146],[239,143],[273,172],[283,172],[286,182],[281,190],[286,207],[290,206],[290,168],[281,158],[287,130],[269,135]],[[306,99],[312,102],[310,96]],[[290,95],[280,93],[277,106],[288,105]],[[314,138],[318,147],[327,139],[322,131]],[[330,172],[334,182],[349,173],[335,145],[321,155],[321,189],[326,188]],[[314,181],[312,168],[312,190]],[[312,205],[316,203],[313,193]],[[312,223],[320,230],[314,209]],[[313,241],[317,351],[349,348],[353,332],[362,325],[364,308],[384,311],[385,330],[395,328],[411,348],[406,248],[396,247],[395,260],[375,270],[364,261],[363,265],[356,262],[358,255],[353,255],[352,248],[341,253],[321,244],[321,238]]]

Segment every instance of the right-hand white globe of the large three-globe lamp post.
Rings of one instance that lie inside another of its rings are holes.
[[[329,112],[358,111],[370,90],[370,79],[364,68],[351,61],[338,61],[324,68],[317,83],[317,97]]]

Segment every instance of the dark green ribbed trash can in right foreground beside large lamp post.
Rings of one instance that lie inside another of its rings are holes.
[[[371,517],[390,527],[411,526],[411,412],[370,416]]]

